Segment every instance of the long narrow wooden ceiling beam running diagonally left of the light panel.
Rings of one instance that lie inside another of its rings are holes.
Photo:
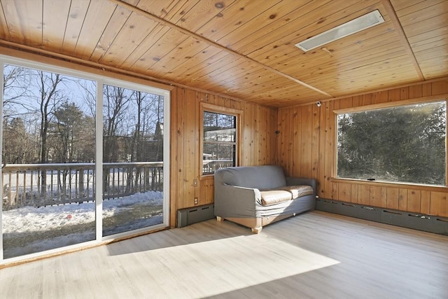
[[[147,18],[150,18],[151,20],[153,20],[155,22],[159,22],[162,25],[166,25],[167,27],[170,27],[170,28],[175,29],[175,30],[177,30],[179,32],[182,32],[183,34],[191,36],[194,39],[197,39],[199,41],[203,41],[204,43],[207,43],[210,46],[214,46],[216,48],[219,48],[220,50],[223,50],[226,53],[230,53],[230,54],[235,55],[235,56],[237,56],[239,58],[242,58],[244,60],[247,60],[249,62],[257,64],[258,66],[263,67],[264,69],[267,69],[268,71],[272,71],[273,73],[275,73],[275,74],[277,74],[279,76],[282,76],[283,78],[287,78],[287,79],[289,79],[291,81],[294,81],[295,83],[299,83],[300,85],[304,86],[305,88],[309,88],[311,90],[314,90],[315,92],[318,92],[321,95],[325,95],[326,97],[332,97],[332,95],[329,95],[327,92],[324,92],[323,90],[319,90],[318,88],[315,88],[314,86],[311,86],[311,85],[309,85],[307,83],[304,83],[303,81],[300,81],[299,79],[297,79],[297,78],[295,78],[293,76],[290,76],[290,75],[285,74],[285,73],[283,73],[283,72],[281,72],[281,71],[279,71],[277,69],[274,69],[273,67],[268,67],[267,65],[262,64],[261,62],[258,62],[256,60],[253,60],[250,57],[247,57],[247,56],[242,55],[240,53],[237,53],[237,52],[235,52],[233,50],[230,50],[229,48],[226,48],[225,46],[221,46],[220,44],[215,43],[214,41],[211,41],[209,39],[206,39],[203,36],[195,34],[194,32],[190,32],[189,30],[187,30],[187,29],[185,29],[183,27],[180,27],[178,25],[175,25],[172,22],[169,22],[169,21],[167,21],[167,20],[165,20],[163,18],[160,18],[157,15],[153,15],[152,13],[148,13],[148,11],[144,11],[143,9],[138,8],[137,6],[132,6],[131,4],[127,4],[126,2],[123,2],[121,0],[109,0],[109,1],[111,1],[111,3],[113,3],[113,4],[117,4],[118,6],[121,6],[123,8],[127,8],[127,9],[129,9],[130,11],[132,11],[134,13],[139,13],[141,15],[145,15]]]

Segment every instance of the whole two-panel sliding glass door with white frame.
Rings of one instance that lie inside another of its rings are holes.
[[[0,263],[168,225],[169,91],[0,66]]]

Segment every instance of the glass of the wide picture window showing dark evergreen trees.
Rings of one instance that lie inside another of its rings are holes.
[[[337,176],[444,185],[446,102],[337,116]]]

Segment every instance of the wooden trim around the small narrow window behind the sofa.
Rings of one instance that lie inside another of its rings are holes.
[[[235,116],[237,119],[235,121],[235,124],[237,126],[237,139],[235,140],[236,148],[235,148],[235,166],[239,166],[239,163],[241,161],[241,116],[243,114],[243,111],[239,109],[233,109],[223,106],[217,106],[214,104],[209,103],[201,103],[200,105],[200,150],[199,150],[199,158],[198,158],[198,173],[200,174],[200,178],[207,177],[207,176],[214,176],[214,174],[204,174],[202,173],[202,164],[203,164],[203,152],[204,152],[204,111],[206,112],[214,112],[214,113],[221,113],[221,114],[227,114],[230,116]]]

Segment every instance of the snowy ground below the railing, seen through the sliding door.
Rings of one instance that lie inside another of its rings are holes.
[[[103,234],[162,223],[160,191],[103,202]],[[95,238],[94,202],[3,211],[3,258],[55,249]]]

